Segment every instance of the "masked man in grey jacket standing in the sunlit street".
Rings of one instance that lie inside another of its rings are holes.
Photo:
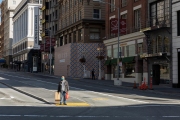
[[[61,82],[59,82],[59,85],[58,85],[58,92],[61,93],[61,96],[60,96],[60,105],[62,105],[62,103],[64,103],[64,105],[67,105],[66,104],[66,94],[68,93],[69,91],[69,84],[68,84],[68,81],[65,80],[65,77],[62,76],[61,77]]]

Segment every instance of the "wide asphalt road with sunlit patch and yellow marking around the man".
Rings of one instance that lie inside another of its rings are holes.
[[[54,102],[59,78],[0,70],[0,120],[180,119],[177,96],[68,81],[70,99],[64,106]]]

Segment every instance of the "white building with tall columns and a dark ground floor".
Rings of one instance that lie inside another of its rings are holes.
[[[28,72],[41,70],[41,55],[38,46],[41,41],[40,29],[35,32],[35,23],[38,25],[41,19],[40,8],[42,0],[22,0],[16,7],[13,16],[13,42],[12,58],[13,68]],[[35,16],[37,15],[37,21]],[[38,19],[39,18],[39,19]],[[36,26],[37,27],[37,26]],[[37,41],[35,41],[35,34]]]

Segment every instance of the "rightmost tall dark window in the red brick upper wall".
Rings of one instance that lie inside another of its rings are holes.
[[[134,11],[134,28],[136,31],[140,30],[140,20],[141,20],[141,9]]]

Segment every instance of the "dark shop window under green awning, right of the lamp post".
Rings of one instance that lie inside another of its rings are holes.
[[[136,74],[135,74],[135,63],[128,63],[125,64],[125,74],[124,74],[125,78],[135,78]]]

